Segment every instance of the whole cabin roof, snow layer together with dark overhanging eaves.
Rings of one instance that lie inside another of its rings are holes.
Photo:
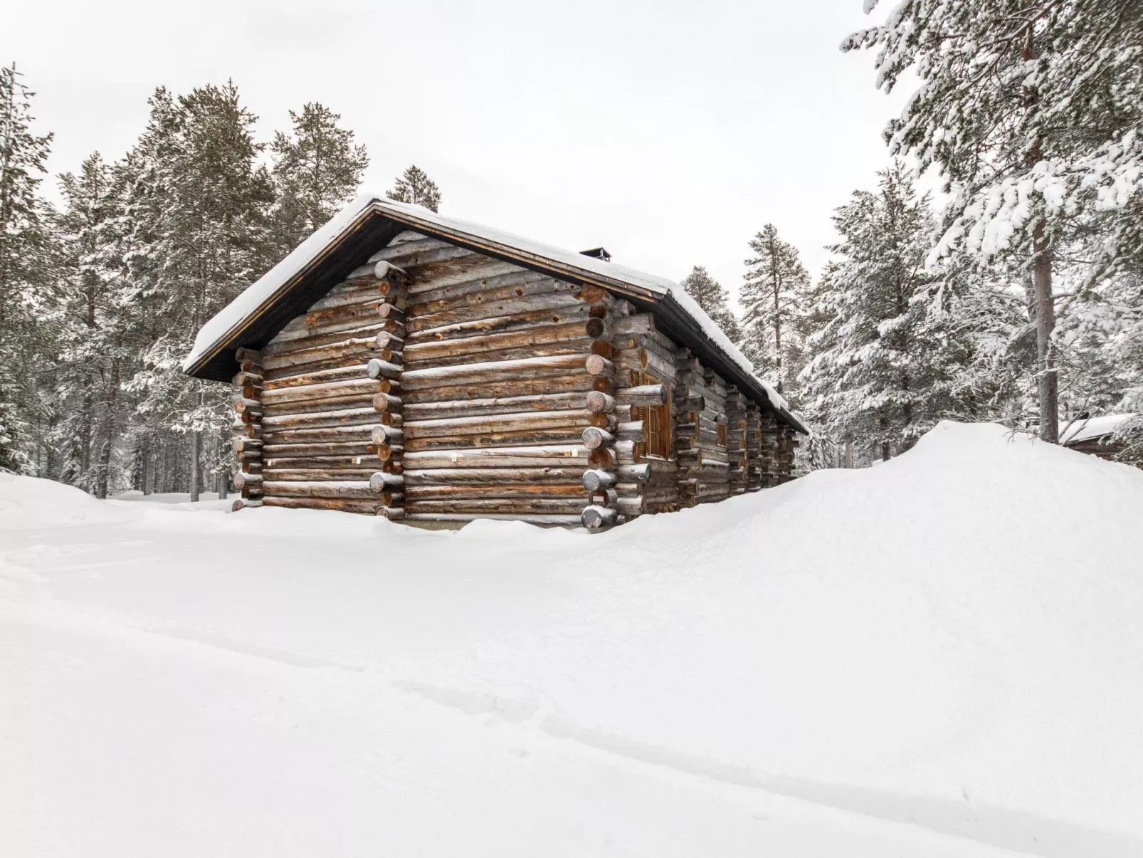
[[[238,372],[235,349],[263,348],[334,285],[366,263],[398,233],[410,229],[531,271],[576,285],[593,284],[622,295],[652,312],[663,333],[689,348],[728,383],[773,411],[784,423],[807,432],[797,415],[789,411],[785,400],[743,368],[741,352],[721,331],[714,328],[712,332],[713,323],[689,295],[670,281],[522,239],[511,241],[512,237],[502,233],[486,230],[485,235],[477,235],[464,222],[446,221],[419,206],[377,197],[359,198],[207,323],[184,364],[184,371],[199,379],[229,381]],[[698,315],[702,318],[696,318]]]

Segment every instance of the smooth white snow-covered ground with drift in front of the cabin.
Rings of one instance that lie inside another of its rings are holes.
[[[605,534],[219,505],[0,476],[0,855],[1143,855],[1143,471],[943,423]]]

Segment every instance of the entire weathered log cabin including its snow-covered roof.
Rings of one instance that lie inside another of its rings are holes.
[[[366,193],[201,331],[243,507],[592,530],[791,478],[806,427],[677,284]]]

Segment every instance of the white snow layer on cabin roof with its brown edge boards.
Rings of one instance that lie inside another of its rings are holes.
[[[290,288],[312,269],[315,261],[328,255],[352,233],[359,231],[370,217],[381,216],[403,227],[451,239],[474,249],[489,251],[509,259],[519,260],[551,270],[555,275],[568,275],[589,280],[600,286],[642,299],[653,304],[677,310],[680,321],[701,335],[706,343],[721,355],[725,363],[733,366],[737,378],[733,383],[753,388],[765,396],[774,410],[793,428],[808,432],[805,423],[790,411],[790,405],[773,386],[759,379],[750,360],[735,347],[722,329],[711,319],[698,303],[673,280],[637,271],[614,262],[585,256],[575,251],[534,241],[471,221],[431,212],[423,206],[395,202],[384,194],[366,192],[350,202],[329,220],[326,225],[298,245],[286,259],[274,265],[242,294],[207,321],[194,340],[191,353],[183,362],[183,371],[198,374],[205,364],[223,349],[232,349],[251,319],[262,316],[283,297]],[[376,251],[377,248],[373,248]],[[371,251],[370,251],[371,252]],[[686,342],[694,347],[695,343]]]

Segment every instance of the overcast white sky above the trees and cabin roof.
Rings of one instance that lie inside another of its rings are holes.
[[[861,7],[38,0],[6,11],[0,61],[38,93],[54,173],[118,158],[155,86],[233,78],[263,140],[307,101],[339,112],[369,189],[415,162],[443,213],[733,291],[767,222],[816,275],[831,210],[887,161],[906,94],[838,50]]]

